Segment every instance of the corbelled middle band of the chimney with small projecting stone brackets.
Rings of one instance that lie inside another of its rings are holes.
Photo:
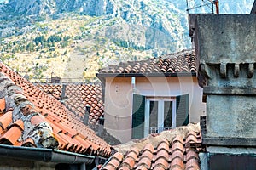
[[[201,64],[200,71],[199,81],[206,82],[205,94],[256,95],[256,75],[251,64]]]

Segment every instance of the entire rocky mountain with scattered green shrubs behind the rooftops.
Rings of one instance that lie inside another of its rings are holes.
[[[189,1],[189,12],[212,12],[195,8],[198,2]],[[225,3],[221,11],[250,10],[250,3]],[[186,9],[181,0],[5,1],[1,59],[33,79],[95,77],[102,66],[191,48]]]

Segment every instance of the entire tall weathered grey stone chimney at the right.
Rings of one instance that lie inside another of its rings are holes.
[[[207,101],[201,126],[211,170],[256,169],[255,28],[256,14],[189,15]]]

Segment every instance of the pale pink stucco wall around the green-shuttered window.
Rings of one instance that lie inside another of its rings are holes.
[[[131,77],[106,78],[104,126],[122,143],[131,140],[132,90]],[[145,96],[189,94],[189,122],[205,115],[196,77],[136,77],[135,90]]]

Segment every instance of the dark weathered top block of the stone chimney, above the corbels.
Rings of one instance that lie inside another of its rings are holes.
[[[256,62],[255,14],[198,14],[194,18],[190,22],[195,22],[195,50],[201,63]]]

